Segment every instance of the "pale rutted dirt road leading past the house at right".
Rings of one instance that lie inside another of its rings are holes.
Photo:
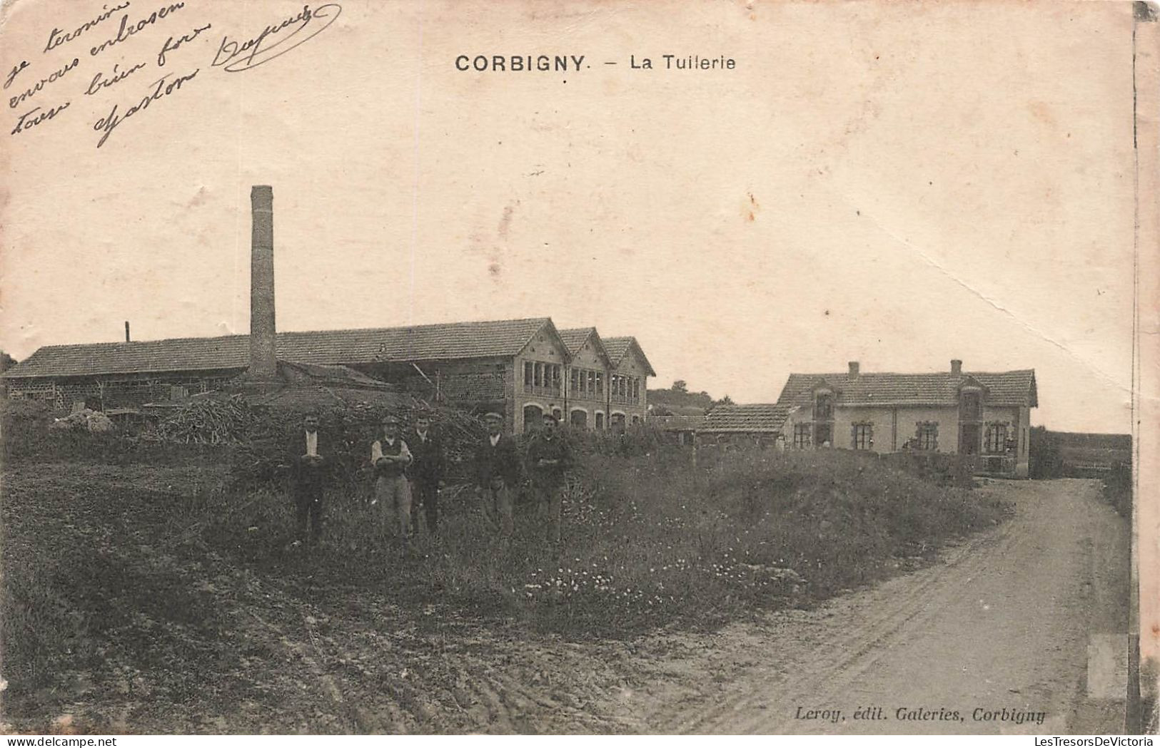
[[[1118,732],[1122,705],[1086,695],[1093,635],[1126,630],[1126,527],[1099,487],[993,483],[1001,527],[817,610],[658,639],[614,711],[665,733]]]

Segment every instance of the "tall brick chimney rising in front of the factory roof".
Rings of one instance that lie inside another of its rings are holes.
[[[277,376],[274,351],[274,190],[255,184],[249,191],[254,221],[249,254],[249,379]]]

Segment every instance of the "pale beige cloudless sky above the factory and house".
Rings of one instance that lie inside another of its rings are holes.
[[[165,7],[132,0],[43,51],[111,7],[5,5],[0,71],[29,63],[6,98],[78,60],[0,130],[17,359],[125,320],[248,331],[249,188],[270,184],[280,330],[551,316],[636,336],[653,387],[735,402],[790,372],[962,359],[1034,368],[1034,424],[1129,430],[1130,3],[343,1],[226,72],[230,43],[303,3],[189,0],[92,54]],[[541,53],[583,64],[455,65]],[[86,94],[115,64],[143,67]]]

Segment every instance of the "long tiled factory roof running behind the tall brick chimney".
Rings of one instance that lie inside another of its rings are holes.
[[[280,332],[275,338],[275,351],[283,361],[324,365],[515,355],[545,327],[557,335],[548,317]],[[244,369],[248,366],[249,336],[229,335],[46,345],[5,372],[3,377]]]

